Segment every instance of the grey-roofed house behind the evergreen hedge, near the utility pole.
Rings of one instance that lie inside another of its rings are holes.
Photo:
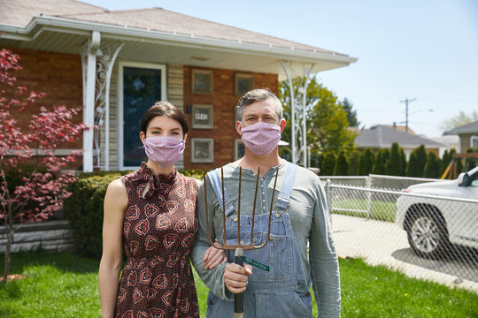
[[[425,146],[427,152],[434,152],[440,155],[440,148],[446,146],[428,138],[420,137],[415,134],[401,132],[387,125],[375,125],[369,129],[358,132],[355,144],[358,149],[370,147],[375,151],[380,148],[391,148],[392,143],[397,142],[401,148],[404,148],[406,159],[410,157],[413,149]]]

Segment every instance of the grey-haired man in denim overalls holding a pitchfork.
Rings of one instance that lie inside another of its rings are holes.
[[[311,171],[279,156],[277,145],[286,125],[281,102],[268,89],[254,89],[240,99],[237,115],[236,131],[243,138],[245,155],[223,167],[227,243],[237,243],[237,223],[241,225],[240,243],[251,243],[251,214],[259,167],[255,245],[268,239],[272,200],[271,235],[263,248],[244,250],[244,260],[253,267],[235,264],[234,251],[228,252],[228,263],[209,269],[206,262],[203,267],[204,253],[210,246],[205,204],[211,237],[224,243],[220,171],[208,173],[204,181],[207,182],[207,202],[204,201],[204,184],[198,196],[200,229],[192,252],[194,266],[210,289],[207,317],[233,317],[232,299],[238,292],[244,292],[246,317],[312,317],[311,281],[319,316],[340,317],[338,261],[323,187]],[[273,193],[277,170],[277,186]],[[237,216],[239,204],[240,218]]]

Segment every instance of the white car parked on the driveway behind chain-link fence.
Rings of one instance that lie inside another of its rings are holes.
[[[415,254],[443,257],[451,244],[478,248],[478,167],[455,180],[409,186],[405,193],[422,195],[397,200],[395,222],[407,232]]]

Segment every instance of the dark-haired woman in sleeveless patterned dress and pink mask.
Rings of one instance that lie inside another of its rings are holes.
[[[140,127],[148,162],[108,186],[98,277],[104,317],[199,317],[189,264],[198,181],[174,169],[188,129],[181,110],[155,103]],[[127,262],[119,283],[123,246]],[[212,267],[227,261],[213,247],[208,255]]]

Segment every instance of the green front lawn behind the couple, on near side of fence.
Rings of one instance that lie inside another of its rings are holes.
[[[473,292],[361,260],[340,260],[340,267],[343,317],[478,317]],[[25,278],[0,284],[0,317],[101,317],[97,269],[98,261],[75,254],[13,254],[11,273]],[[197,292],[204,317],[207,288],[198,279]]]

